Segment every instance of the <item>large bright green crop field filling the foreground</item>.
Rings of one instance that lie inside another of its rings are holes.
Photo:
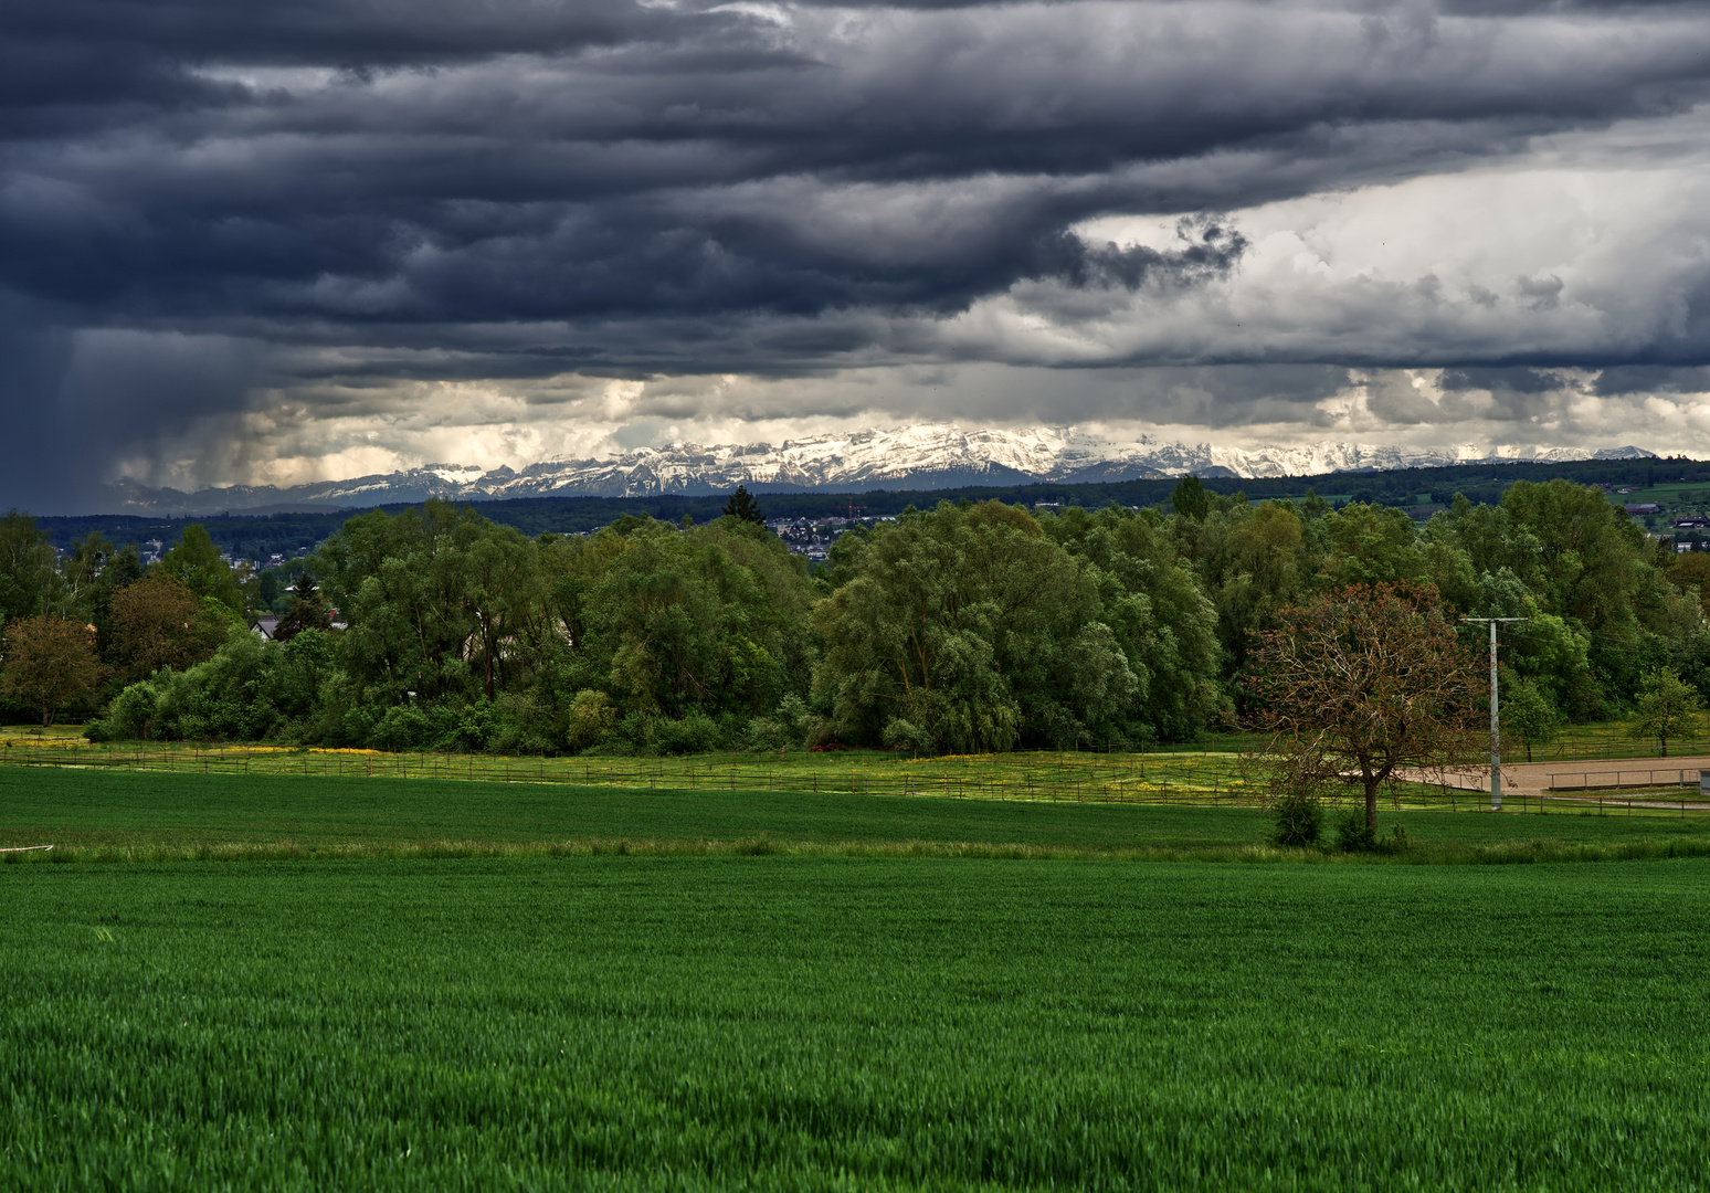
[[[0,1186],[1703,1188],[1707,899],[1710,860],[0,867]]]

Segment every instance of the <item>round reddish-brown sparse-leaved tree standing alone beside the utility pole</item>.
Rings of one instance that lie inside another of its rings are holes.
[[[1488,679],[1435,588],[1339,588],[1276,620],[1248,655],[1247,689],[1284,786],[1356,786],[1377,829],[1380,786],[1486,745]]]

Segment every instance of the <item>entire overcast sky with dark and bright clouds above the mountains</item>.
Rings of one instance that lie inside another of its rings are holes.
[[[7,0],[0,502],[819,429],[1710,455],[1710,5]]]

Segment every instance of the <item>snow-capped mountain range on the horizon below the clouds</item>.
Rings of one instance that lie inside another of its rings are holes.
[[[864,492],[949,489],[1036,482],[1199,477],[1310,477],[1327,472],[1387,472],[1508,460],[1635,460],[1642,448],[1392,448],[1363,443],[1214,448],[1209,443],[1110,438],[1082,427],[964,431],[927,424],[893,431],[850,431],[805,439],[701,446],[674,443],[605,460],[556,460],[522,470],[431,463],[407,472],[323,480],[286,489],[231,485],[180,492],[135,482],[113,487],[113,513],[209,514],[238,509],[359,508],[428,497],[607,496],[662,492],[718,494],[744,484],[754,492]]]

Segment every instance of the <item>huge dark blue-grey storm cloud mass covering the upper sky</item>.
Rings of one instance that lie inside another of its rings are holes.
[[[347,378],[925,350],[934,320],[1028,279],[1224,277],[1248,246],[1216,212],[1683,111],[1707,15],[12,0],[0,287],[9,344],[34,347],[5,403],[63,422],[101,390],[111,455],[149,420],[311,381],[268,373],[280,345],[352,347]],[[1072,231],[1183,210],[1207,215],[1170,248]],[[1520,289],[1542,309],[1563,284]],[[68,328],[166,338],[86,342],[68,373],[43,347]],[[192,366],[215,342],[250,347]]]

